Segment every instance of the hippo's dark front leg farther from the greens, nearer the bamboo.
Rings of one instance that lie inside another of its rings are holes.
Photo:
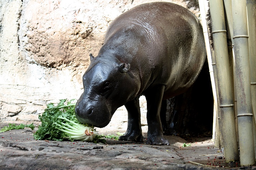
[[[170,145],[169,141],[163,137],[163,130],[160,120],[160,109],[163,97],[164,85],[158,85],[148,92],[147,100],[147,141],[149,145]]]

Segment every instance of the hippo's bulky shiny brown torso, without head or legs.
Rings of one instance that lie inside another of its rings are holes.
[[[168,2],[146,3],[117,17],[109,26],[99,54],[112,50],[140,75],[140,93],[166,86],[163,98],[184,92],[205,61],[202,27],[186,8]]]

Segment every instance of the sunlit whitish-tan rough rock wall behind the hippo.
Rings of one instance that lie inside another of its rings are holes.
[[[38,121],[47,103],[78,99],[89,53],[97,55],[109,24],[153,1],[0,0],[0,122]],[[200,17],[196,0],[167,1]]]

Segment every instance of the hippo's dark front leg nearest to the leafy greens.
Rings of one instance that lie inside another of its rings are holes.
[[[129,140],[135,142],[143,142],[141,121],[140,121],[140,103],[139,97],[125,104],[128,112],[127,131],[123,136],[119,136],[118,140]]]

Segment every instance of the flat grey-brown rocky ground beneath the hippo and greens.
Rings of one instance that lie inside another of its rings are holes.
[[[0,123],[0,127],[4,125]],[[239,167],[239,163],[225,164],[223,152],[214,148],[209,138],[186,141],[166,136],[170,146],[114,139],[95,144],[35,140],[35,130],[0,133],[0,169],[256,169]],[[191,146],[182,147],[189,142]]]

